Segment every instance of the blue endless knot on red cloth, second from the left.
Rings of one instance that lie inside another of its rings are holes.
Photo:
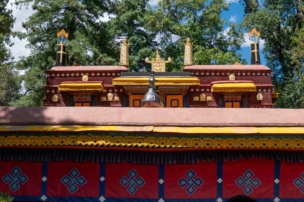
[[[77,177],[80,173],[76,168],[73,168],[69,174],[71,177],[65,175],[60,181],[64,184],[64,186],[70,184],[67,189],[71,192],[71,194],[74,194],[74,192],[79,189],[77,185],[82,186],[87,183],[87,180],[85,180],[83,176]]]

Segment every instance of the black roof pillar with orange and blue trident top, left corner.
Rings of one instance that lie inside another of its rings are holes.
[[[56,66],[65,66],[67,59],[67,45],[69,34],[62,29],[57,32],[57,55],[56,55]]]

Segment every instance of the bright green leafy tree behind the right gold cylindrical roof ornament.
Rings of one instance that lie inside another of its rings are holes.
[[[167,71],[181,71],[187,37],[194,43],[195,64],[246,63],[241,60],[243,34],[232,23],[221,19],[228,10],[225,0],[161,0],[156,10],[150,8],[145,28],[156,32],[162,56],[172,58]],[[225,25],[229,28],[224,29]]]

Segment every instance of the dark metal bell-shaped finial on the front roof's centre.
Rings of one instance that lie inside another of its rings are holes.
[[[155,82],[154,79],[154,72],[151,71],[151,77],[149,79],[149,86],[147,93],[143,96],[143,100],[141,101],[142,107],[161,107],[161,99],[159,99],[159,96],[155,92]]]

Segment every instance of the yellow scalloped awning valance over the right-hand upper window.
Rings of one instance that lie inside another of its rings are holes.
[[[254,83],[216,83],[211,87],[211,92],[255,92]]]

